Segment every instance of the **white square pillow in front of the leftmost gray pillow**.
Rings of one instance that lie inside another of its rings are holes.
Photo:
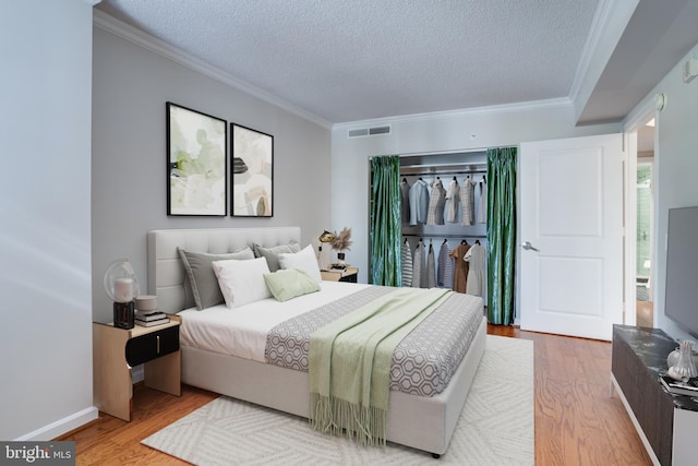
[[[213,266],[228,308],[272,297],[264,282],[264,274],[269,273],[266,259],[214,261]]]

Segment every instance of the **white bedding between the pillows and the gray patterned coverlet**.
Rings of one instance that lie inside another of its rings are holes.
[[[265,362],[266,335],[274,326],[369,286],[321,282],[321,291],[285,302],[267,298],[233,309],[225,304],[203,311],[185,309],[179,312],[182,316],[180,342],[184,346]]]

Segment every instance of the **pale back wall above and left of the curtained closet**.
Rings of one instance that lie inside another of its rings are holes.
[[[349,129],[386,124],[392,127],[389,135],[347,138]],[[619,130],[619,124],[575,128],[571,104],[566,100],[335,126],[332,135],[332,228],[352,228],[354,242],[347,253],[347,262],[360,267],[359,280],[366,282],[370,157],[474,151]]]

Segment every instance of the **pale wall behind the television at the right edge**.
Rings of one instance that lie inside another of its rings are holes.
[[[698,45],[686,56],[698,56]],[[666,280],[666,226],[669,210],[698,205],[698,80],[683,82],[682,60],[647,98],[664,93],[664,110],[657,113],[654,152],[654,322],[674,338],[688,338],[664,315]],[[646,98],[646,99],[647,99]],[[635,110],[634,110],[635,111]],[[693,339],[693,338],[691,338]]]

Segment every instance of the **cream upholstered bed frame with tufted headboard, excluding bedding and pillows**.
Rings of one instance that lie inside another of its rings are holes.
[[[192,332],[184,335],[188,322],[193,324],[194,316],[204,315],[207,310],[191,310],[194,304],[191,290],[188,292],[185,289],[186,274],[179,253],[180,248],[200,253],[222,254],[251,244],[270,248],[290,242],[300,243],[300,228],[153,230],[148,232],[147,241],[148,294],[157,296],[158,310],[182,315],[182,382],[308,418],[308,372],[266,363],[251,356],[226,354],[215,346],[196,344],[192,340]],[[333,287],[337,289],[346,286],[356,286],[356,289],[370,287],[323,282],[322,294],[334,292]],[[346,295],[346,288],[341,289]],[[468,299],[471,299],[468,301],[470,306],[474,297]],[[455,365],[445,389],[433,396],[419,396],[395,390],[389,392],[387,441],[429,452],[435,457],[446,452],[485,347],[486,319],[482,312],[482,300],[479,299],[473,306],[478,308],[479,315],[476,318],[471,342],[464,349],[460,363]],[[188,319],[188,313],[191,319]]]

